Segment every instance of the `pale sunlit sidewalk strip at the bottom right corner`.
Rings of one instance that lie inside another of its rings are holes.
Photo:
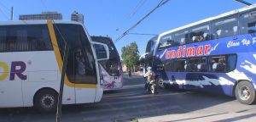
[[[256,113],[234,112],[234,113],[189,113],[168,114],[156,117],[138,119],[139,122],[255,122]]]

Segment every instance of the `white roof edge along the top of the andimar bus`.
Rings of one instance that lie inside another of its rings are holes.
[[[250,10],[250,9],[253,9],[253,8],[256,8],[256,4],[253,4],[253,5],[251,5],[251,6],[247,6],[247,7],[245,7],[245,8],[239,8],[239,9],[236,9],[236,10],[232,10],[232,11],[230,11],[230,12],[227,12],[227,13],[224,13],[224,14],[219,14],[219,15],[217,15],[217,16],[213,16],[213,17],[210,17],[210,18],[207,18],[207,19],[202,19],[202,20],[200,20],[200,21],[197,21],[197,22],[195,22],[195,23],[191,23],[191,24],[189,24],[189,25],[183,25],[183,26],[178,27],[178,28],[176,28],[176,29],[173,29],[173,30],[171,30],[171,31],[166,31],[166,32],[161,33],[160,36],[159,36],[159,38],[158,38],[158,40],[160,40],[160,37],[161,37],[161,36],[165,36],[166,34],[172,33],[172,32],[174,32],[174,31],[180,31],[180,30],[183,30],[183,29],[185,29],[185,28],[189,28],[189,27],[194,26],[194,25],[200,25],[200,24],[205,23],[205,22],[207,22],[207,21],[211,21],[211,20],[214,20],[214,19],[223,18],[223,17],[229,16],[229,15],[232,15],[232,14],[241,13],[241,12],[244,12],[244,11],[247,11],[247,10]]]

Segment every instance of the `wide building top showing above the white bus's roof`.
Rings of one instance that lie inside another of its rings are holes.
[[[57,12],[42,12],[41,14],[24,14],[20,15],[20,20],[37,20],[37,19],[62,19],[62,14]]]

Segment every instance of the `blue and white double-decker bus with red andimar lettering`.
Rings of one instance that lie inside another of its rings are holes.
[[[165,86],[235,96],[241,103],[252,104],[256,91],[256,6],[160,34],[153,67]]]

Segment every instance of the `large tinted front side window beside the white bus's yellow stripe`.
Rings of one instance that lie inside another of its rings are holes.
[[[55,24],[55,34],[61,51],[70,45],[67,58],[67,78],[73,83],[96,83],[96,66],[90,42],[81,25]]]

